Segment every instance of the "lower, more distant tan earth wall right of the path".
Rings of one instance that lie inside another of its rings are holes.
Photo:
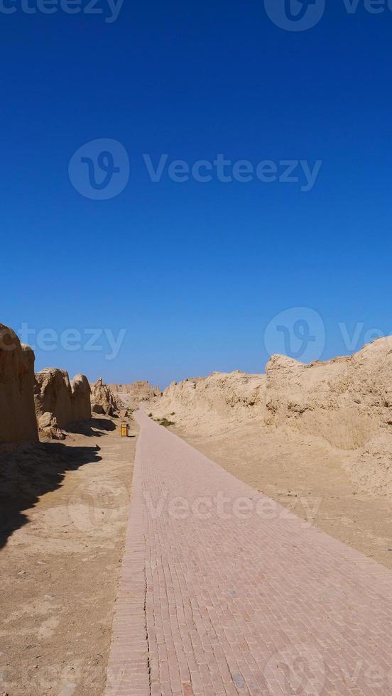
[[[213,372],[208,377],[173,382],[152,407],[154,417],[166,417],[193,432],[217,432],[252,418],[262,418],[266,376]]]

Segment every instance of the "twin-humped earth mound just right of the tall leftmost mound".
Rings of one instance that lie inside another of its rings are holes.
[[[91,418],[89,382],[82,374],[70,381],[57,367],[37,372],[34,401],[38,426],[48,437],[61,437],[62,428]]]

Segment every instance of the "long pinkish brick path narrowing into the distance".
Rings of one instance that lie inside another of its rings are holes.
[[[107,696],[390,696],[392,573],[136,417]]]

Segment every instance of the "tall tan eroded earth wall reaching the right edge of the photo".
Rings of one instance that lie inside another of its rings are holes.
[[[275,355],[266,374],[267,423],[321,435],[344,450],[392,433],[391,337],[309,365]]]

